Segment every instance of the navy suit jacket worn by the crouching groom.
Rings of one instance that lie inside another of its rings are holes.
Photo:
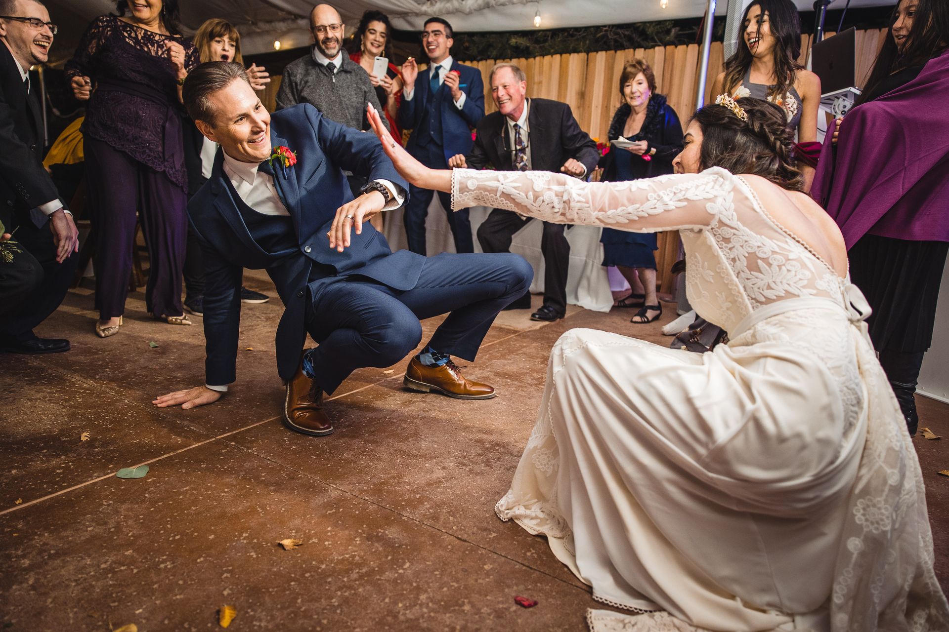
[[[266,252],[254,242],[226,182],[224,156],[218,151],[211,178],[188,203],[188,218],[201,244],[205,265],[204,335],[208,384],[235,379],[240,328],[242,268],[265,269],[286,305],[277,326],[277,370],[288,380],[300,362],[306,339],[307,300],[314,305],[326,283],[361,275],[397,290],[409,290],[419,280],[425,258],[408,250],[393,253],[385,238],[368,222],[363,234],[352,234],[343,252],[329,247],[326,233],[336,209],[353,199],[343,170],[371,180],[385,179],[406,192],[400,177],[375,135],[329,120],[308,103],[270,117],[273,147],[297,153],[297,163],[274,168],[274,185],[287,207],[295,231],[295,247]],[[313,263],[320,277],[310,280]],[[326,270],[331,270],[326,272]]]

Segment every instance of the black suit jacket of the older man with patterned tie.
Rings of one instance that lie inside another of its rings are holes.
[[[559,173],[568,158],[574,158],[586,167],[586,173],[592,172],[600,154],[593,139],[580,129],[570,106],[550,99],[529,99],[528,107],[530,168]],[[498,171],[513,171],[512,143],[510,137],[505,139],[507,121],[500,112],[481,119],[472,151],[465,156],[469,168],[493,165]]]

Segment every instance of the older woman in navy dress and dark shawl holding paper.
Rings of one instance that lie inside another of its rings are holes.
[[[613,115],[607,137],[612,143],[622,136],[632,144],[610,146],[600,160],[602,180],[637,180],[673,172],[672,160],[682,151],[682,125],[665,97],[655,92],[656,77],[649,64],[626,63],[620,76],[623,104]],[[600,241],[603,264],[615,265],[632,288],[632,294],[617,302],[617,307],[641,308],[630,322],[652,322],[662,316],[656,298],[656,234],[604,228]]]

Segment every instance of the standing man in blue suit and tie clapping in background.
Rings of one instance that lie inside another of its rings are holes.
[[[428,69],[419,78],[419,66],[409,58],[402,64],[402,103],[399,124],[412,130],[405,149],[432,169],[448,169],[448,159],[472,149],[472,129],[484,117],[484,81],[481,71],[457,63],[451,56],[455,43],[452,25],[441,18],[425,21],[421,44]],[[420,79],[420,81],[416,81]],[[405,234],[409,250],[425,254],[425,216],[435,191],[413,186],[405,205]],[[451,210],[448,193],[438,193],[448,213],[448,225],[457,252],[474,252],[468,209]]]

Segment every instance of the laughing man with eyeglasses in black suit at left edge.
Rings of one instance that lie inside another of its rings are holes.
[[[33,328],[65,297],[79,233],[43,168],[43,115],[29,68],[46,63],[56,27],[35,0],[0,0],[0,352],[55,353],[69,341]]]

